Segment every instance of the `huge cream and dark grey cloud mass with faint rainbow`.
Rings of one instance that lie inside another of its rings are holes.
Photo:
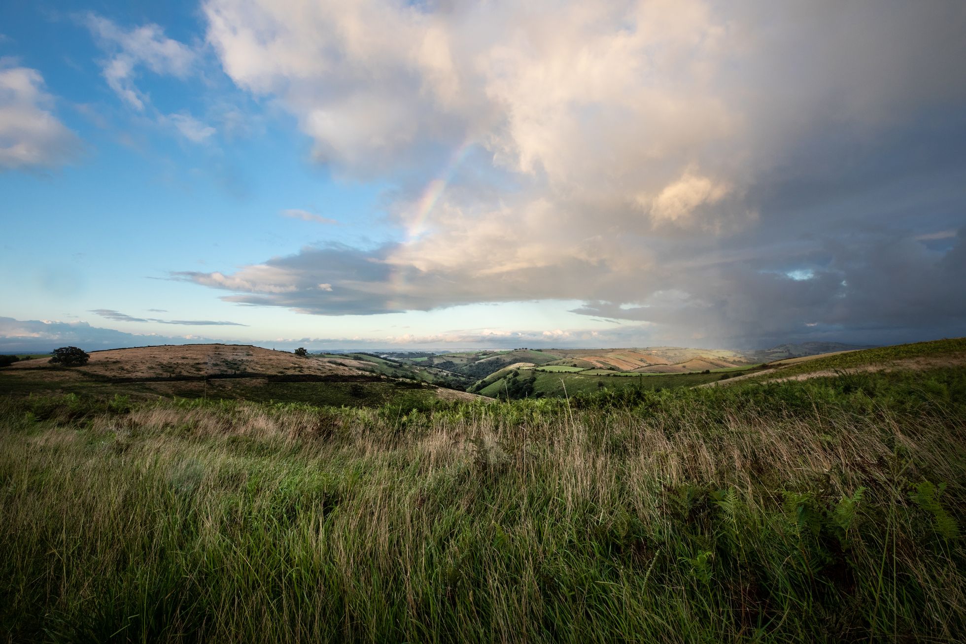
[[[288,109],[320,162],[395,183],[402,231],[176,274],[229,301],[339,315],[570,298],[737,340],[964,320],[929,286],[960,274],[961,240],[922,237],[966,225],[962,3],[204,12],[223,69]]]

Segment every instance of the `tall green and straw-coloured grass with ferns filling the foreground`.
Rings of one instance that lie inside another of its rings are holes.
[[[961,641],[963,375],[0,404],[11,641]]]

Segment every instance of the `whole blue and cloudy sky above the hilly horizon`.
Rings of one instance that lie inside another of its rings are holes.
[[[966,3],[0,3],[0,351],[966,335]]]

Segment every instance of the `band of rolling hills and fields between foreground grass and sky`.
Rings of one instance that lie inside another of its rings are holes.
[[[559,397],[596,389],[661,389],[716,382],[783,366],[777,358],[854,350],[837,343],[771,350],[677,347],[310,353],[243,345],[184,345],[92,352],[81,367],[24,354],[0,377],[9,392],[179,396],[379,406],[426,400]],[[15,355],[15,354],[14,354]],[[769,364],[772,363],[772,364]],[[568,389],[569,387],[569,389]],[[466,393],[464,393],[466,392]]]

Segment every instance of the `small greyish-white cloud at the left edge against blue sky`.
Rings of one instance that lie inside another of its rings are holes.
[[[56,167],[77,154],[79,139],[52,103],[40,71],[0,59],[0,170]]]

